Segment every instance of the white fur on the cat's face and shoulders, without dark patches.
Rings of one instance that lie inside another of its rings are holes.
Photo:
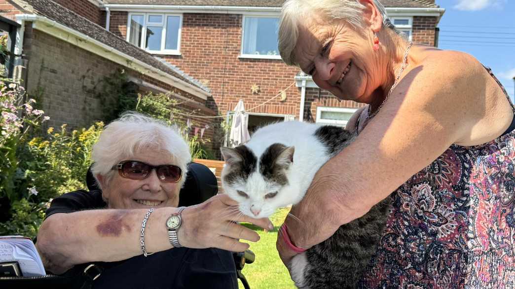
[[[264,218],[278,208],[295,205],[302,200],[315,173],[330,157],[325,146],[314,136],[320,126],[299,121],[279,122],[267,125],[252,135],[246,146],[258,158],[258,167],[249,175],[247,182],[229,186],[224,182],[224,176],[228,173],[227,167],[222,171],[225,192],[239,203],[239,208],[244,214],[253,218]],[[295,147],[293,164],[286,173],[289,184],[282,188],[267,182],[260,174],[259,158],[273,143]],[[249,198],[239,195],[237,190],[245,192]],[[276,191],[279,193],[275,197],[265,198],[267,193]],[[261,209],[261,212],[254,215],[250,211],[251,207]]]

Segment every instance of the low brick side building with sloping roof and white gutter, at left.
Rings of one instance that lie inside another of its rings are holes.
[[[2,0],[0,10],[3,25],[17,24],[10,42],[22,55],[9,72],[39,99],[50,116],[48,126],[85,127],[116,117],[117,97],[99,89],[115,71],[124,71],[134,92],[170,93],[184,115],[216,115],[208,87],[100,26],[105,13],[98,2]],[[205,129],[207,119],[192,120],[213,138],[213,128]]]

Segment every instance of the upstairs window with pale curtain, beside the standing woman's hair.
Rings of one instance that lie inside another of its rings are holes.
[[[242,58],[281,59],[278,48],[279,17],[244,16]]]

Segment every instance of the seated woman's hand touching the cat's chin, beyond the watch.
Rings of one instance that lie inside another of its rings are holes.
[[[237,202],[226,194],[213,196],[202,204],[187,207],[182,211],[182,225],[178,230],[181,245],[188,248],[220,248],[243,252],[249,244],[237,239],[259,241],[255,231],[236,222],[248,222],[271,230],[268,218],[252,219],[239,212]]]

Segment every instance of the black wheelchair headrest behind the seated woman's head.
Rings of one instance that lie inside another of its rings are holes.
[[[86,185],[90,191],[100,190],[91,172],[91,167],[86,174]],[[202,164],[190,162],[184,186],[179,193],[179,206],[200,204],[217,193],[218,183],[213,172]]]

